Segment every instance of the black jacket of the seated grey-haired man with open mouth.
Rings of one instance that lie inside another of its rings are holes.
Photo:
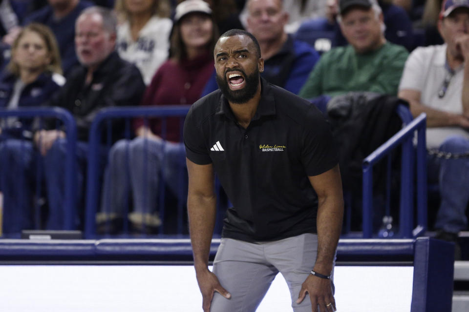
[[[77,122],[77,139],[88,140],[88,131],[96,113],[109,106],[138,105],[145,91],[142,75],[135,65],[121,59],[112,52],[93,74],[89,85],[85,85],[87,69],[75,68],[64,87],[48,102],[49,106],[60,106],[69,110]],[[49,123],[48,128],[54,128]],[[113,139],[118,139],[124,127],[113,123]]]

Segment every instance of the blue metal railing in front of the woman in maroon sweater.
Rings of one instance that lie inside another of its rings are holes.
[[[148,123],[148,117],[185,117],[189,111],[190,105],[166,105],[166,106],[141,106],[141,107],[108,107],[102,109],[93,120],[89,131],[89,153],[88,153],[88,169],[87,169],[87,185],[86,185],[86,208],[85,208],[85,237],[92,238],[96,234],[95,215],[98,210],[99,190],[99,150],[101,148],[101,125],[105,121],[117,118],[144,117],[145,124]],[[109,127],[108,127],[109,128]],[[126,130],[128,124],[126,124]],[[181,127],[182,128],[182,127]],[[165,119],[162,120],[162,134],[165,138],[166,127]],[[182,133],[182,131],[181,131]],[[109,134],[109,132],[108,132]],[[110,137],[107,138],[110,141]],[[163,199],[164,200],[164,199]],[[161,200],[160,200],[161,202]],[[177,228],[178,233],[183,229],[183,203],[178,202]],[[164,210],[160,205],[160,217],[163,220],[159,227],[159,233],[164,230]],[[127,222],[124,223],[126,231]]]

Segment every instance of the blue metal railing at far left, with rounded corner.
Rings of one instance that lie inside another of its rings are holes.
[[[76,141],[77,127],[75,119],[65,109],[60,107],[28,107],[12,110],[0,110],[0,118],[19,117],[53,117],[64,123],[67,137],[67,158],[65,164],[65,199],[64,199],[64,230],[75,228],[76,205]]]

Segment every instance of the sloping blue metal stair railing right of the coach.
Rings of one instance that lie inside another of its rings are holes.
[[[417,227],[414,223],[414,154],[413,138],[417,131]],[[402,146],[401,160],[401,198],[399,211],[399,236],[409,238],[418,236],[426,230],[426,114],[421,114],[405,128],[387,140],[376,151],[363,160],[363,238],[371,238],[373,231],[373,166],[392,150]]]

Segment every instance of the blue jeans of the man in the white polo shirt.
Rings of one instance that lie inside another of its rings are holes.
[[[449,153],[469,152],[469,140],[460,136],[448,137],[440,150]],[[435,228],[450,233],[465,230],[468,227],[469,158],[432,158],[428,162],[428,176],[432,175],[438,175],[441,195]]]

